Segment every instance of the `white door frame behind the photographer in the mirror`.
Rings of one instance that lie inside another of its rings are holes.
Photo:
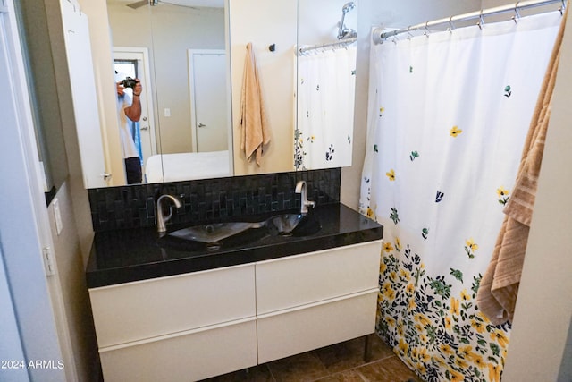
[[[155,117],[153,115],[153,91],[149,74],[149,55],[146,47],[114,47],[114,62],[125,63],[134,69],[132,78],[138,77],[143,87],[141,93],[141,118],[139,119],[139,135],[141,137],[141,153],[143,155],[143,174],[147,159],[157,153],[155,135]],[[135,76],[135,77],[134,77]]]

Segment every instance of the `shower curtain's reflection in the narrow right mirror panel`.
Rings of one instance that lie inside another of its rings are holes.
[[[297,170],[351,165],[356,45],[298,57]]]

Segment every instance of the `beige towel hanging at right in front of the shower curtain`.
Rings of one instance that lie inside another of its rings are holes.
[[[568,7],[554,43],[548,70],[544,75],[543,87],[526,136],[517,182],[503,210],[505,217],[501,232],[492,252],[491,263],[481,280],[476,296],[479,310],[494,325],[502,324],[507,320],[512,321],[514,316],[567,14]]]

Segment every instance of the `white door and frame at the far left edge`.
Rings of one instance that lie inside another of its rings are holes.
[[[0,0],[0,380],[77,380],[57,330],[59,285],[43,262],[54,245],[13,3]],[[55,368],[30,368],[32,360]]]

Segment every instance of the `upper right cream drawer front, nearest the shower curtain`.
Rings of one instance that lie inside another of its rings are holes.
[[[382,242],[257,263],[257,314],[377,287]]]

